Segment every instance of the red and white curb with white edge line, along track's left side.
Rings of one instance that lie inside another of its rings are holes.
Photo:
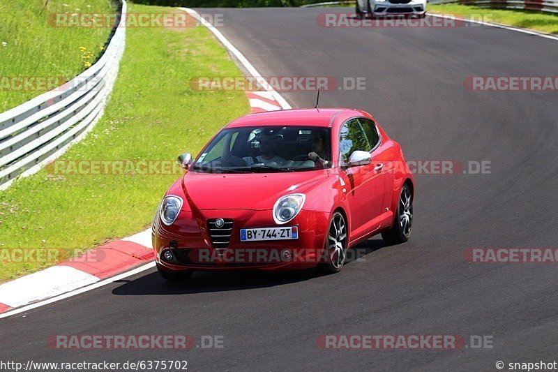
[[[288,110],[291,108],[285,98],[269,84],[266,84],[262,75],[259,75],[248,59],[220,31],[200,17],[195,10],[179,9],[197,18],[199,22],[215,34],[216,38],[225,45],[229,52],[234,54],[252,77],[259,77],[258,81],[263,81],[262,89],[264,91],[246,92],[252,112]],[[91,260],[91,257],[100,259]],[[100,246],[93,251],[84,253],[80,258],[61,262],[48,269],[1,284],[0,318],[24,313],[24,311],[32,308],[99,288],[154,266],[151,229],[148,229],[131,237]]]

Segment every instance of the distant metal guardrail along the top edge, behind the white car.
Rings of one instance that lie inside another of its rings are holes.
[[[349,4],[355,1],[328,1],[326,3],[313,3],[301,6],[310,8],[313,6],[328,6],[337,4]],[[463,5],[474,5],[481,8],[514,9],[514,10],[538,10],[541,12],[558,13],[558,0],[429,0],[431,4],[460,3]],[[428,9],[427,9],[428,10]]]

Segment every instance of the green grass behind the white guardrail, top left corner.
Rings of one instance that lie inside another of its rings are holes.
[[[0,1],[0,78],[4,79],[0,112],[49,90],[10,89],[8,79],[61,77],[63,82],[82,73],[101,54],[110,27],[56,27],[56,13],[114,11],[111,0],[50,0],[46,7],[45,0]]]

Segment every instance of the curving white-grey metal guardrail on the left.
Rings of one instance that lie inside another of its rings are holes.
[[[122,0],[120,15],[126,8]],[[103,116],[126,44],[123,22],[117,17],[105,53],[93,66],[61,87],[0,113],[0,190],[61,156]]]

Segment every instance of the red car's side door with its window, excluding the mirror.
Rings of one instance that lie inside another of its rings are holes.
[[[369,136],[372,139],[370,123],[359,118],[347,120],[339,131],[341,177],[347,186],[353,239],[358,239],[379,226],[375,219],[377,220],[382,209],[382,170],[375,169],[377,165],[373,159],[367,165],[349,166],[349,158],[354,151],[368,151],[372,154],[377,147],[379,141],[370,143]]]

